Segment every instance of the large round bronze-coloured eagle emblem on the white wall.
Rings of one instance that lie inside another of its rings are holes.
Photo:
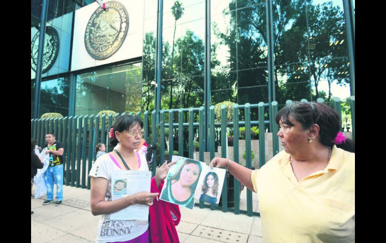
[[[84,45],[88,54],[97,60],[109,58],[121,47],[129,29],[129,16],[119,2],[106,3],[98,8],[87,23]]]

